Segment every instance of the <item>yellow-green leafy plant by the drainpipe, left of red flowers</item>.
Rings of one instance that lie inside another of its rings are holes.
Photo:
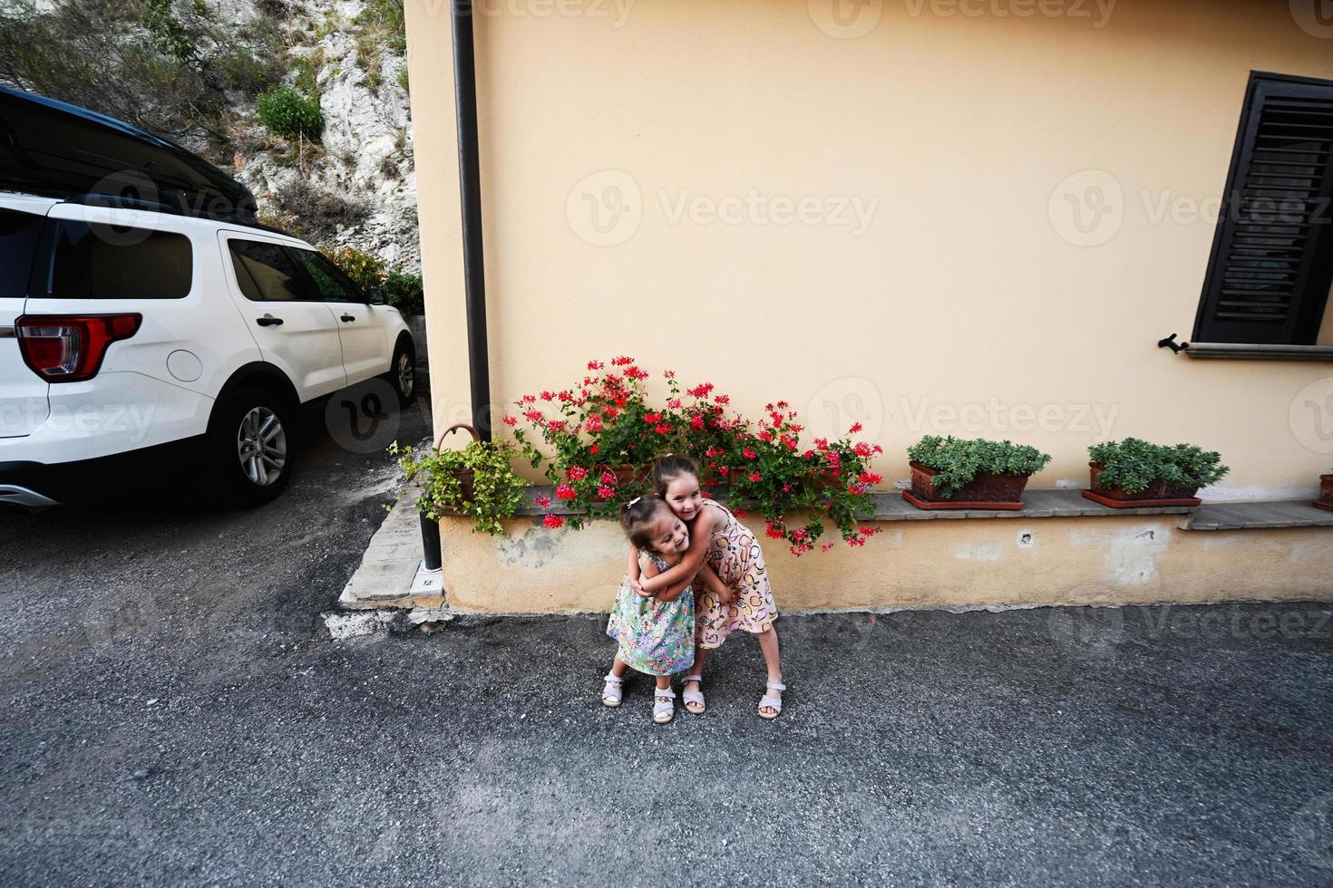
[[[501,522],[513,518],[528,489],[512,465],[523,454],[509,441],[473,441],[461,450],[440,451],[400,449],[393,442],[389,454],[399,458],[405,483],[421,485],[417,499],[421,514],[436,521],[464,515],[472,519],[472,533],[503,537]],[[459,477],[465,471],[472,473],[471,485]]]

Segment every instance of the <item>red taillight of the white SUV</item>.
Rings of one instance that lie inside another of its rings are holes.
[[[15,320],[24,362],[47,382],[80,382],[97,375],[107,347],[139,332],[144,316],[24,314]]]

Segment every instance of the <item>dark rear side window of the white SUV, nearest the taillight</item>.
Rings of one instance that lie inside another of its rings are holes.
[[[189,293],[193,252],[175,232],[60,221],[45,286],[55,300],[179,300]],[[41,292],[45,290],[45,292]]]

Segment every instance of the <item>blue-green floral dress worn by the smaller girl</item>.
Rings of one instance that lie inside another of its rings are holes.
[[[657,570],[670,564],[649,553]],[[620,659],[648,675],[673,675],[694,664],[694,591],[686,588],[673,600],[644,598],[629,584],[620,584],[607,635],[620,642]]]

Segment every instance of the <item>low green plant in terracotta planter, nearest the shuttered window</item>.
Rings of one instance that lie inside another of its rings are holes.
[[[1138,438],[1088,447],[1092,483],[1082,495],[1112,509],[1197,506],[1200,487],[1221,481],[1230,469],[1217,451],[1196,445],[1154,445]]]

